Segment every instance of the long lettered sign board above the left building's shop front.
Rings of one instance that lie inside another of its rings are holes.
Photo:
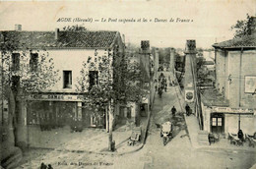
[[[82,95],[71,94],[32,94],[30,100],[49,100],[49,101],[82,101]]]

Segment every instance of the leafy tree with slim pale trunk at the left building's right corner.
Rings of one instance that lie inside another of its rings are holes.
[[[96,71],[90,75],[89,71]],[[89,77],[95,80],[90,82]],[[108,148],[111,149],[112,131],[114,121],[114,105],[127,103],[127,101],[139,102],[145,95],[141,87],[141,71],[138,63],[131,63],[123,53],[114,48],[108,50],[106,56],[89,57],[83,63],[80,77],[77,79],[77,89],[83,94],[85,105],[94,109],[94,113],[105,112],[106,130],[109,132]]]

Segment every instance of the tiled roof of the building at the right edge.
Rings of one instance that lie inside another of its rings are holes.
[[[256,34],[233,38],[220,43],[215,43],[216,48],[254,48],[256,47]]]

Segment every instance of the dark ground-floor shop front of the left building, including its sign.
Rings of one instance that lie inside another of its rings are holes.
[[[94,111],[82,105],[77,94],[36,94],[32,95],[27,107],[27,124],[40,126],[41,130],[74,126],[105,127],[104,112]]]

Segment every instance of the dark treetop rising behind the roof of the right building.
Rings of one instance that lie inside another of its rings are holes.
[[[252,23],[251,16],[247,14],[247,17],[245,20],[238,20],[235,25],[231,26],[231,29],[235,30],[234,32],[234,38],[242,37],[244,35],[250,34],[250,25]]]

